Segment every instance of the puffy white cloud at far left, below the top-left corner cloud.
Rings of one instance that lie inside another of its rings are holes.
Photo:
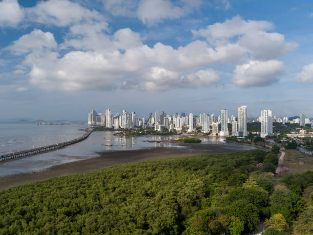
[[[34,29],[31,33],[21,36],[18,40],[13,41],[12,45],[7,47],[15,55],[26,54],[29,52],[41,51],[42,49],[56,49],[57,42],[50,32],[42,32]]]

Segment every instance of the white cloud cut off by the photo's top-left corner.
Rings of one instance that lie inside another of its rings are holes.
[[[0,2],[0,27],[16,27],[24,18],[24,10],[17,0],[3,0]]]

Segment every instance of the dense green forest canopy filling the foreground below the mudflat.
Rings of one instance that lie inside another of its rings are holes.
[[[259,149],[152,160],[5,189],[0,234],[240,234],[282,217],[304,234],[313,172],[274,188],[265,161],[275,155]]]

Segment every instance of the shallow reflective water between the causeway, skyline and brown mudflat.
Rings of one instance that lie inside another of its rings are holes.
[[[76,126],[76,130],[78,128],[79,127]],[[72,134],[74,135],[75,133],[77,134],[80,132],[74,132],[72,130]],[[202,143],[196,145],[183,145],[170,142],[170,140],[178,139],[181,136],[151,135],[126,137],[117,136],[114,134],[115,132],[93,132],[86,140],[73,145],[69,145],[65,148],[57,149],[53,152],[47,152],[30,157],[23,157],[13,161],[1,162],[0,176],[29,172],[40,172],[55,165],[79,161],[82,159],[94,158],[99,156],[99,152],[106,151],[126,151],[151,147],[179,147],[181,149],[186,149],[186,152],[199,152],[200,148],[210,150],[211,147],[216,148],[217,145],[224,145],[223,147],[228,148],[228,152],[236,150],[238,151],[238,149],[248,150],[254,148],[253,146],[227,143],[225,142],[225,139],[216,137],[199,137],[202,140]],[[68,135],[68,137],[71,135]],[[196,146],[196,148],[193,148],[191,146]]]

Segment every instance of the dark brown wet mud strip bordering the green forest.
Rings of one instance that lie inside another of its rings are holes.
[[[248,149],[236,149],[222,145],[197,145],[184,144],[185,148],[179,147],[157,147],[133,151],[116,151],[99,153],[99,157],[85,159],[57,165],[44,170],[27,174],[11,175],[0,178],[0,189],[10,188],[30,182],[41,181],[53,177],[69,176],[78,173],[94,172],[112,165],[127,164],[131,162],[147,161],[152,159],[174,158],[195,156],[211,153],[238,152]]]

